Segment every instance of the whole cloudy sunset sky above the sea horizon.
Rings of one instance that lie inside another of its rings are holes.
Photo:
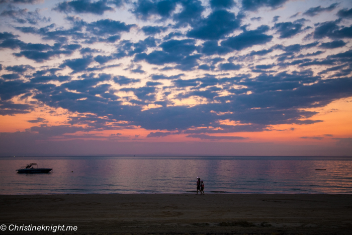
[[[352,155],[349,0],[0,0],[0,155]]]

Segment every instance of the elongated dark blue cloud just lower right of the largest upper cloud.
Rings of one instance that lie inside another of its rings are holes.
[[[240,35],[229,37],[221,42],[222,46],[228,46],[235,50],[242,50],[254,45],[262,45],[270,42],[273,36],[264,34],[269,30],[269,27],[262,25],[256,30],[244,31]]]

